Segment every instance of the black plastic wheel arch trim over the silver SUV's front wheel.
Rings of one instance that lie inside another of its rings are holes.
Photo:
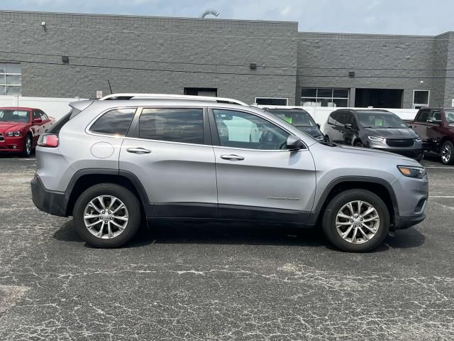
[[[399,216],[399,206],[397,205],[397,197],[394,190],[387,181],[381,178],[365,176],[345,176],[332,180],[326,186],[319,202],[316,202],[315,210],[311,212],[309,224],[319,223],[326,206],[338,193],[353,189],[369,190],[378,195],[387,206],[391,224],[396,223],[396,217]]]

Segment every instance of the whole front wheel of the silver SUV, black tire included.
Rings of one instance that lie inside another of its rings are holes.
[[[343,214],[350,216],[350,209],[346,207],[349,202],[354,202],[352,203],[353,210],[358,212],[358,201],[362,202],[360,209],[362,213],[370,210],[371,207],[375,211],[364,217],[361,215],[355,217],[354,214],[349,219],[338,217],[338,213],[341,213],[341,210]],[[371,220],[373,218],[372,215],[378,217],[378,220],[375,218],[365,224],[363,220]],[[353,224],[351,223],[352,221]],[[337,225],[337,222],[342,225]],[[365,226],[372,227],[372,230],[365,228]],[[350,232],[346,234],[345,238],[341,237],[340,232],[347,232],[350,227]],[[356,235],[355,239],[353,239],[355,227]],[[345,190],[336,195],[336,197],[333,197],[328,203],[325,212],[323,212],[322,228],[329,242],[338,249],[348,252],[367,252],[382,244],[384,238],[387,236],[389,232],[389,212],[383,200],[374,193],[360,189]],[[360,230],[365,232],[369,238],[368,240],[363,237]],[[374,231],[375,234],[373,233]]]

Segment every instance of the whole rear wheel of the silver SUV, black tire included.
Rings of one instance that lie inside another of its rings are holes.
[[[103,198],[102,201],[106,210],[102,209],[101,202],[96,199],[100,196]],[[116,200],[112,200],[111,197],[115,197]],[[93,205],[96,206],[96,209],[90,204],[92,200],[94,200]],[[111,211],[109,211],[109,205],[112,201],[114,202],[111,205]],[[121,206],[120,203],[123,203],[126,208],[118,208]],[[114,212],[117,208],[117,212]],[[105,212],[105,215],[102,212]],[[111,215],[109,215],[109,212],[111,212]],[[90,218],[84,219],[85,214]],[[92,217],[96,215],[96,218]],[[100,215],[102,219],[100,218],[100,222],[95,224]],[[140,202],[130,190],[123,186],[114,183],[101,183],[88,188],[77,198],[74,204],[73,218],[77,234],[87,244],[100,248],[121,247],[135,236],[140,227]],[[89,229],[86,222],[87,224],[94,224],[94,226]],[[118,228],[118,225],[121,225],[122,229]],[[103,227],[102,231],[101,226]],[[99,234],[99,231],[101,231],[102,237],[96,237],[95,234]]]

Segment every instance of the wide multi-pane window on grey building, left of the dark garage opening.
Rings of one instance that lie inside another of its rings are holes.
[[[301,105],[304,107],[348,107],[348,89],[303,88]]]

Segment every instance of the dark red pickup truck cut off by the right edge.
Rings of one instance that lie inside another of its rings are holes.
[[[407,123],[421,136],[427,153],[440,156],[445,165],[454,163],[454,109],[421,108]]]

